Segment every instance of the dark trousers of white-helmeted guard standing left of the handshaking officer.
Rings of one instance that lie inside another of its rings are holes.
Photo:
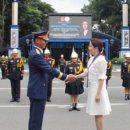
[[[20,99],[20,79],[10,79],[11,93],[14,100]]]

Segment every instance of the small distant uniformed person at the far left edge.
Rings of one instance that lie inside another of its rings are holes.
[[[7,71],[7,61],[6,57],[2,55],[1,60],[1,72],[2,72],[2,79],[6,79],[6,71]]]

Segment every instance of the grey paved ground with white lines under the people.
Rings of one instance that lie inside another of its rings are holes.
[[[104,130],[129,130],[130,101],[124,100],[120,73],[118,72],[120,67],[114,67],[108,87],[112,113],[105,117]],[[21,102],[10,103],[10,82],[7,79],[0,80],[0,130],[28,130],[27,82],[28,73],[25,74],[21,84]],[[81,111],[69,112],[69,96],[64,94],[64,82],[54,79],[52,102],[46,105],[43,130],[96,130],[94,118],[85,113],[86,97],[87,88],[85,87],[84,94],[80,96]]]

